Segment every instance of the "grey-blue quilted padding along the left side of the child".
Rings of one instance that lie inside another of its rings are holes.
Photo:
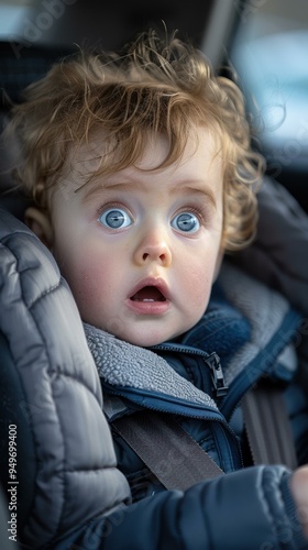
[[[14,421],[24,446],[26,431],[28,449],[18,455],[19,528],[34,549],[127,499],[129,487],[116,468],[98,374],[70,290],[47,249],[3,210],[0,304],[1,397],[12,413],[1,438]]]

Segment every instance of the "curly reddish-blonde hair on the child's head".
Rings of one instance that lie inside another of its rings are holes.
[[[72,147],[89,143],[99,129],[108,146],[98,172],[106,175],[136,163],[148,131],[167,136],[162,168],[206,127],[218,135],[223,161],[224,250],[253,239],[263,158],[251,147],[243,96],[231,79],[215,76],[191,44],[150,31],[120,53],[79,52],[55,64],[24,99],[10,122],[21,145],[15,176],[37,205],[46,207]]]

